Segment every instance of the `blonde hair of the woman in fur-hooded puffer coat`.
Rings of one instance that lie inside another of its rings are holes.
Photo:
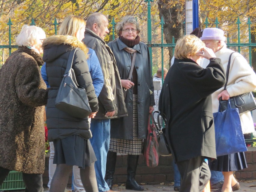
[[[76,33],[81,29],[81,27],[85,27],[85,20],[77,15],[69,15],[66,17],[60,27],[59,27],[59,35],[70,35],[76,37]]]

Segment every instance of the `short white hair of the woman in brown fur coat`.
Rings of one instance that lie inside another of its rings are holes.
[[[21,28],[20,34],[16,38],[16,44],[18,46],[32,47],[46,37],[42,28],[37,26],[24,25]]]

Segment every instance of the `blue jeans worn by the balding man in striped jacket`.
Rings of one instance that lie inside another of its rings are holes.
[[[110,119],[91,119],[91,132],[93,137],[90,142],[93,146],[97,161],[95,162],[96,179],[99,192],[109,190],[105,181],[107,153],[110,142]]]

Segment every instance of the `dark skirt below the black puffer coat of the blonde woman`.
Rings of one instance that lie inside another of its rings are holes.
[[[84,169],[97,160],[90,140],[86,140],[79,135],[56,139],[53,144],[53,164],[76,165]]]

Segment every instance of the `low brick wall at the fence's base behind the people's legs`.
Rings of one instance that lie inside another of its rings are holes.
[[[248,148],[249,151],[245,152],[248,168],[235,173],[236,178],[239,180],[253,180],[256,179],[256,151],[254,148]],[[43,183],[47,185],[48,178],[48,164],[49,157],[46,157],[45,171],[43,174]],[[122,184],[126,182],[127,173],[127,155],[117,155],[116,170],[114,174],[114,183]],[[70,174],[69,184],[71,184]],[[138,183],[159,184],[173,182],[173,166],[172,156],[160,156],[159,165],[157,167],[147,167],[144,162],[143,155],[139,157],[137,167],[136,181]]]

